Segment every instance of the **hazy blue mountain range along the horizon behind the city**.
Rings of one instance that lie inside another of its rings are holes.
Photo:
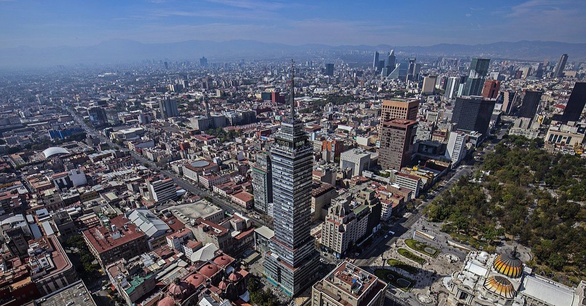
[[[212,42],[210,40],[188,40],[177,43],[140,43],[134,40],[114,39],[83,47],[46,47],[21,46],[0,49],[0,68],[50,67],[71,64],[127,63],[145,59],[170,59],[195,61],[206,56],[210,60],[222,59],[276,59],[285,56],[300,56],[318,50],[357,50],[387,51],[414,56],[483,56],[493,59],[517,60],[557,60],[562,53],[569,54],[569,61],[586,60],[585,43],[561,43],[527,41],[498,42],[489,44],[435,44],[433,46],[328,46],[326,44],[302,44],[289,46],[281,43],[265,43],[254,40],[229,40]]]

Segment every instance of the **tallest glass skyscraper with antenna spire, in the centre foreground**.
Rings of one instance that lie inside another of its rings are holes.
[[[313,145],[295,118],[294,88],[292,77],[291,115],[281,122],[271,146],[275,236],[263,266],[264,274],[291,295],[311,286],[319,258],[309,233]]]

